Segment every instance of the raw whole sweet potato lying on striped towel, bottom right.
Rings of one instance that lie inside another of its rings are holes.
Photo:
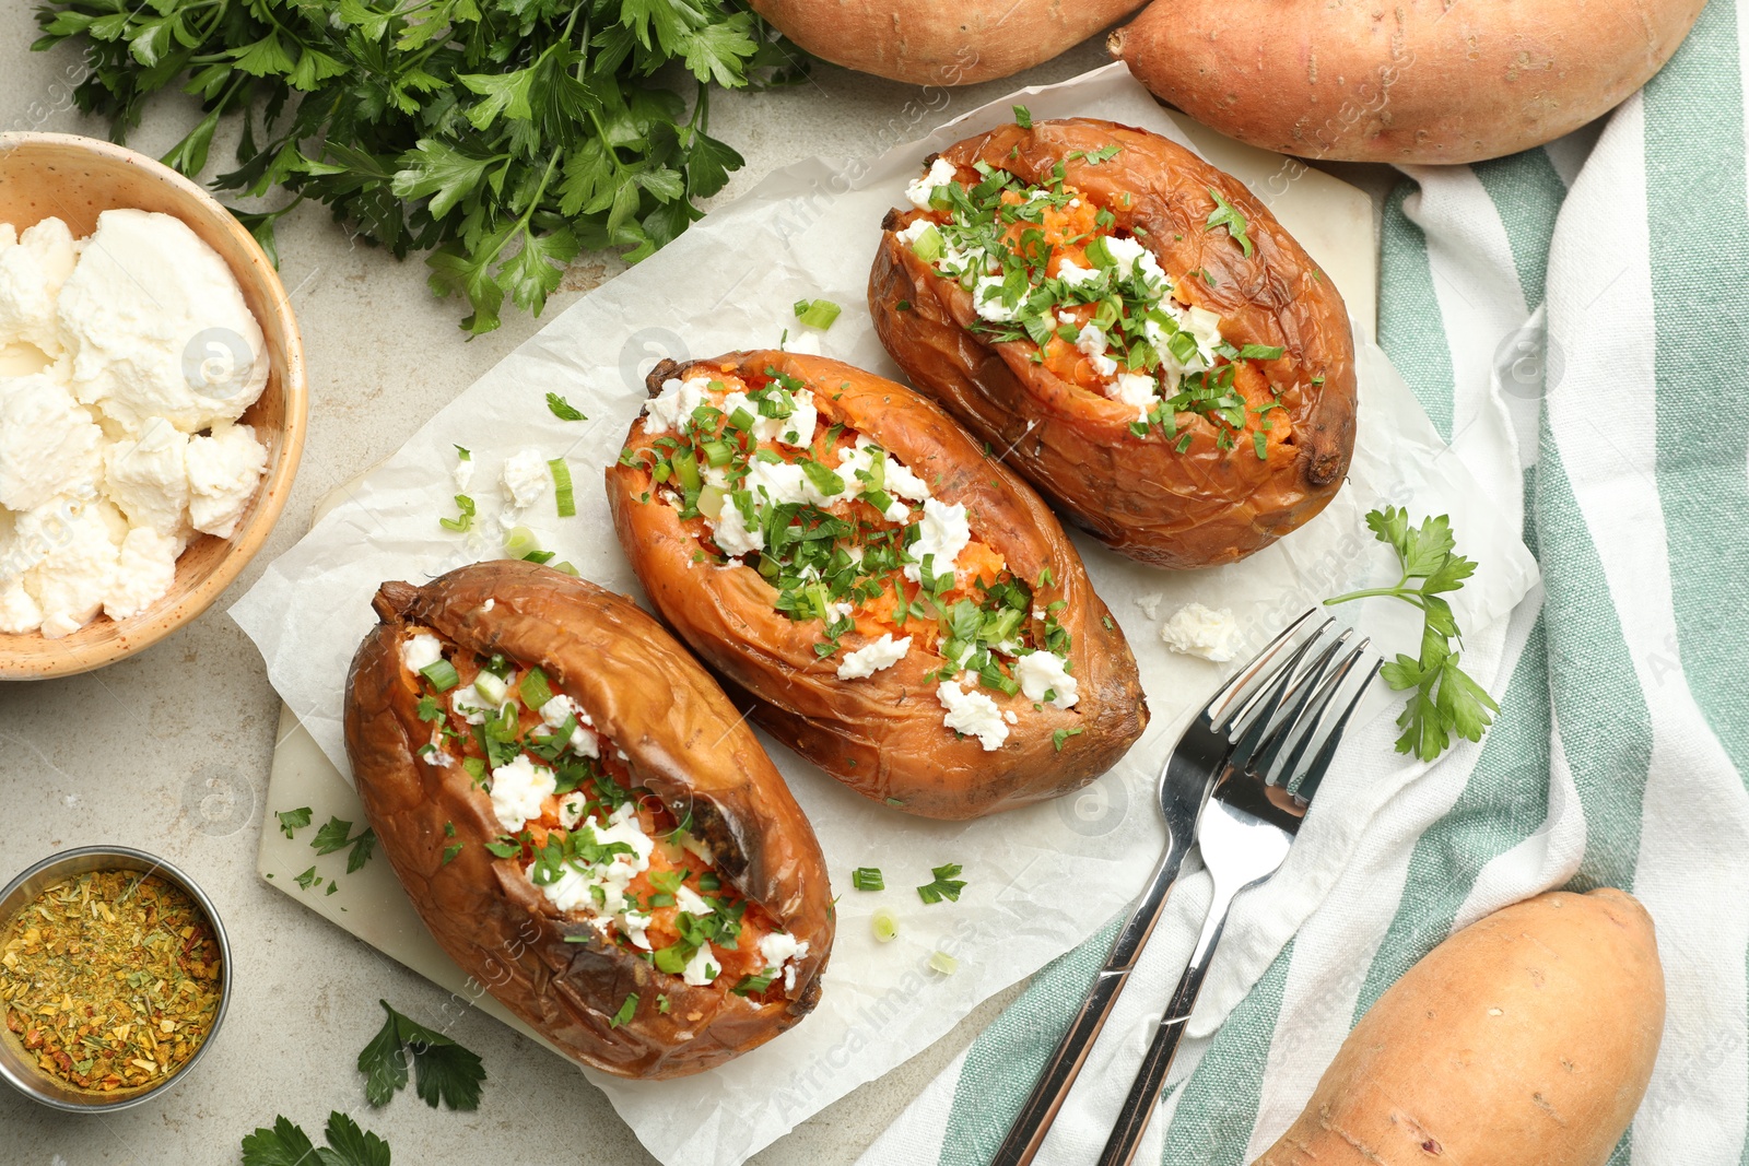
[[[1256,1166],[1600,1166],[1662,1033],[1646,909],[1613,888],[1537,895],[1392,984]]]

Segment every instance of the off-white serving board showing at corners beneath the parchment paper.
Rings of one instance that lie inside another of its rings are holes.
[[[1376,332],[1378,246],[1373,238],[1371,198],[1319,170],[1307,168],[1296,159],[1240,145],[1177,114],[1174,114],[1174,121],[1195,142],[1203,157],[1249,185],[1270,206],[1282,226],[1300,239],[1301,246],[1341,290],[1348,315],[1368,332]],[[317,507],[315,517],[325,514],[343,496],[346,496],[346,489],[336,489]],[[273,815],[301,806],[311,809],[310,825],[297,830],[296,837],[287,839]],[[392,960],[404,963],[439,988],[456,993],[462,1000],[477,1003],[519,1033],[540,1040],[539,1033],[511,1016],[444,954],[413,911],[413,904],[408,902],[395,881],[394,869],[381,855],[357,874],[345,874],[346,851],[317,857],[310,841],[315,837],[317,827],[329,816],[339,816],[359,829],[364,823],[364,806],[346,778],[334,769],[327,755],[304,732],[297,715],[282,706],[273,773],[268,780],[268,818],[261,832],[255,871],[268,879],[269,886],[297,899]],[[303,890],[296,879],[311,865],[324,883]],[[332,895],[327,893],[327,879],[331,878],[338,878],[339,886]],[[540,1040],[540,1044],[546,1042]]]

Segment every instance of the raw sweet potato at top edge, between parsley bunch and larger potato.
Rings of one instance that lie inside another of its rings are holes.
[[[752,0],[752,7],[834,65],[913,86],[974,86],[1067,52],[1142,0]]]

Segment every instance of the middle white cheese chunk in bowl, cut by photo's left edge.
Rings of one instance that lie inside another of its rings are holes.
[[[40,372],[0,376],[0,505],[35,510],[56,495],[96,496],[103,430]]]

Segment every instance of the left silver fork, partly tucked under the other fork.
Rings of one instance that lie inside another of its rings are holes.
[[[1289,645],[1310,617],[1312,612],[1307,612],[1289,624],[1287,631],[1275,636],[1266,649],[1221,685],[1221,691],[1196,713],[1174,746],[1160,771],[1158,792],[1160,813],[1167,820],[1167,850],[1160,855],[1142,897],[1130,909],[1130,918],[1123,921],[1123,928],[1111,946],[1111,954],[1105,958],[1105,967],[1093,977],[1081,1012],[1076,1014],[1063,1038],[1056,1042],[1056,1051],[1051,1052],[1039,1082],[1032,1087],[1032,1094],[1020,1108],[1007,1138],[995,1152],[992,1166],[1025,1166],[1039,1152],[1063,1098],[1069,1096],[1069,1087],[1086,1063],[1093,1040],[1118,1002],[1118,993],[1128,982],[1142,947],[1147,946],[1147,937],[1154,932],[1154,923],[1160,921],[1167,895],[1179,878],[1179,867],[1184,865],[1184,857],[1195,844],[1196,816],[1209,797],[1209,783],[1221,773],[1235,748],[1233,732],[1238,715],[1251,708],[1256,694],[1270,691],[1272,682],[1305,656],[1305,649],[1291,652]]]

